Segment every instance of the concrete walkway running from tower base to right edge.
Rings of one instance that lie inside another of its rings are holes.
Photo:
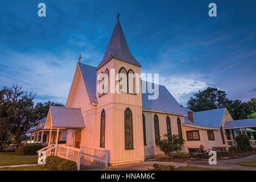
[[[150,160],[144,163],[137,164],[127,164],[123,166],[113,166],[106,167],[101,169],[101,171],[147,171],[148,169],[152,169],[153,164],[162,164],[162,165],[171,165],[175,167],[204,167],[204,168],[217,168],[217,169],[243,169],[256,171],[255,167],[246,167],[237,165],[239,162],[253,161],[256,160],[256,155],[247,156],[246,158],[240,159],[229,159],[229,160],[217,160],[216,165],[210,165],[208,160],[204,161],[191,161],[191,162],[158,162],[155,160]]]

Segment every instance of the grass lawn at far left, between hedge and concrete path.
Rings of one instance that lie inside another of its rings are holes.
[[[15,152],[1,152],[0,166],[38,163],[37,155],[16,155]]]

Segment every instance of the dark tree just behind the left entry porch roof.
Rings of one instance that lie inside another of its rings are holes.
[[[44,117],[47,117],[48,111],[49,111],[49,107],[50,106],[61,106],[63,107],[63,104],[60,103],[55,103],[55,102],[38,102],[38,104],[35,105],[35,109],[34,112],[36,114],[36,118],[38,119],[42,119]]]

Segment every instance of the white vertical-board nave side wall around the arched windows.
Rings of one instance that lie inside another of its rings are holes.
[[[158,147],[155,145],[155,126],[154,126],[154,115],[158,116],[159,120],[159,132],[160,137],[162,138],[164,134],[167,134],[167,125],[166,125],[166,118],[167,116],[170,118],[171,121],[171,131],[172,135],[179,135],[179,131],[177,129],[177,118],[180,118],[181,123],[184,123],[183,116],[171,115],[171,114],[162,114],[162,113],[153,113],[148,111],[143,111],[145,116],[145,123],[146,123],[146,145],[144,146],[144,155],[145,158],[154,158],[158,156],[163,156],[163,152],[159,150]],[[182,128],[182,135],[184,139],[184,129]],[[185,150],[185,147],[184,147]]]

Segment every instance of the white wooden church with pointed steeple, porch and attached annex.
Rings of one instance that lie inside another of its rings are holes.
[[[112,79],[115,75],[110,74],[110,69],[126,75],[141,74],[141,64],[129,51],[119,18],[98,67],[77,63],[65,107],[50,107],[46,120],[41,121],[44,125],[30,132],[34,139],[39,142],[41,135],[40,141],[51,145],[65,138],[66,146],[78,151],[82,149],[85,154],[94,151],[94,157],[99,159],[101,156],[97,154],[108,151],[104,154],[108,155],[107,161],[111,166],[163,156],[155,143],[164,134],[170,138],[174,134],[184,138],[184,151],[189,146],[199,147],[200,144],[204,144],[206,149],[232,145],[234,135],[227,137],[224,129],[226,121],[233,119],[225,108],[205,114],[204,111],[193,113],[180,106],[163,85],[159,85],[159,97],[148,100],[149,94],[141,93],[143,81],[139,79],[137,83],[128,76],[128,86],[121,93],[99,93],[97,86],[101,81],[109,84],[104,87],[110,89],[110,85],[118,85],[120,81]],[[108,81],[104,80],[105,75],[108,75]],[[139,93],[134,92],[137,85]],[[252,121],[246,127],[255,127],[255,123]],[[225,131],[245,128],[228,126]],[[254,132],[251,130],[251,136]]]

